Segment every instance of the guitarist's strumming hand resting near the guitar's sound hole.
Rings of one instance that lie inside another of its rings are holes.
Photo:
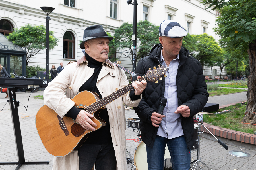
[[[96,123],[94,123],[90,118],[93,118],[93,115],[81,110],[79,114],[77,115],[76,122],[80,124],[84,129],[95,131],[95,128],[93,126],[97,126]]]

